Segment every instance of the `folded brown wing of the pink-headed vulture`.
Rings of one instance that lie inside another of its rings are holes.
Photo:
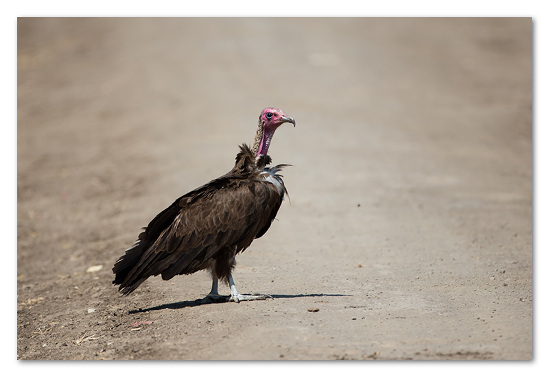
[[[282,202],[272,184],[259,180],[227,180],[221,187],[201,189],[180,197],[151,221],[139,240],[148,247],[129,250],[129,254],[132,250],[142,254],[121,281],[123,293],[130,293],[149,276],[162,274],[168,280],[194,273],[225,247],[245,250],[270,226]],[[124,264],[124,256],[119,262]]]

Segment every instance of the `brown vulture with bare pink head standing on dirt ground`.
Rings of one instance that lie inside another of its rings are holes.
[[[176,275],[207,269],[211,291],[205,301],[266,300],[268,295],[242,295],[233,280],[235,256],[270,228],[288,193],[278,174],[269,167],[267,151],[274,131],[296,122],[278,108],[259,115],[253,147],[243,144],[229,173],[198,187],[160,212],[139,234],[113,267],[119,291],[128,295],[150,276],[170,280]],[[220,296],[218,282],[229,285],[231,295]]]

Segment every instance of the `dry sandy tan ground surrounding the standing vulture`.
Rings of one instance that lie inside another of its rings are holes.
[[[17,357],[532,358],[531,79],[530,19],[19,19]],[[267,106],[290,201],[235,280],[273,300],[121,297]]]

